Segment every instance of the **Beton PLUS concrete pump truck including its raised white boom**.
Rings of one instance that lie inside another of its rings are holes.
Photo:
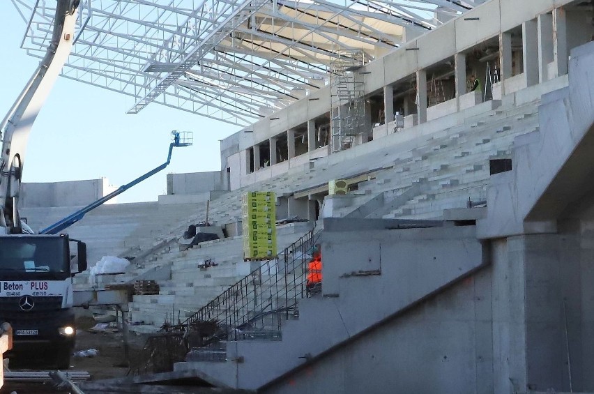
[[[86,269],[86,245],[68,234],[22,234],[18,198],[31,127],[73,46],[79,0],[57,0],[52,41],[0,123],[0,323],[13,327],[6,357],[70,366],[76,338],[73,276]]]

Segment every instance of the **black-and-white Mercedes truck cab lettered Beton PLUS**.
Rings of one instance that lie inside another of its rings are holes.
[[[14,335],[9,358],[34,354],[68,368],[76,335],[73,276],[85,269],[86,245],[66,234],[0,235],[0,321]]]

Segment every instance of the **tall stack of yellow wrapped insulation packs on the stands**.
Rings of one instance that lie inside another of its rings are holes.
[[[276,205],[274,192],[243,195],[243,257],[266,259],[276,250]]]

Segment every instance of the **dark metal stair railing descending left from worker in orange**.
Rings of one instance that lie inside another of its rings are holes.
[[[187,350],[216,347],[226,339],[254,339],[260,335],[279,338],[281,321],[298,317],[298,301],[308,296],[307,263],[319,234],[307,232],[169,331],[183,336],[180,342]],[[145,365],[137,365],[130,372],[173,370],[173,362],[164,366],[162,356],[158,356],[171,347],[168,340],[167,335],[149,338],[142,357]]]

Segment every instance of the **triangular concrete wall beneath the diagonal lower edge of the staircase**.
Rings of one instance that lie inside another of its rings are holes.
[[[484,273],[464,280],[262,392],[493,393],[492,348],[475,352],[490,335],[475,319],[490,310],[485,283]]]

